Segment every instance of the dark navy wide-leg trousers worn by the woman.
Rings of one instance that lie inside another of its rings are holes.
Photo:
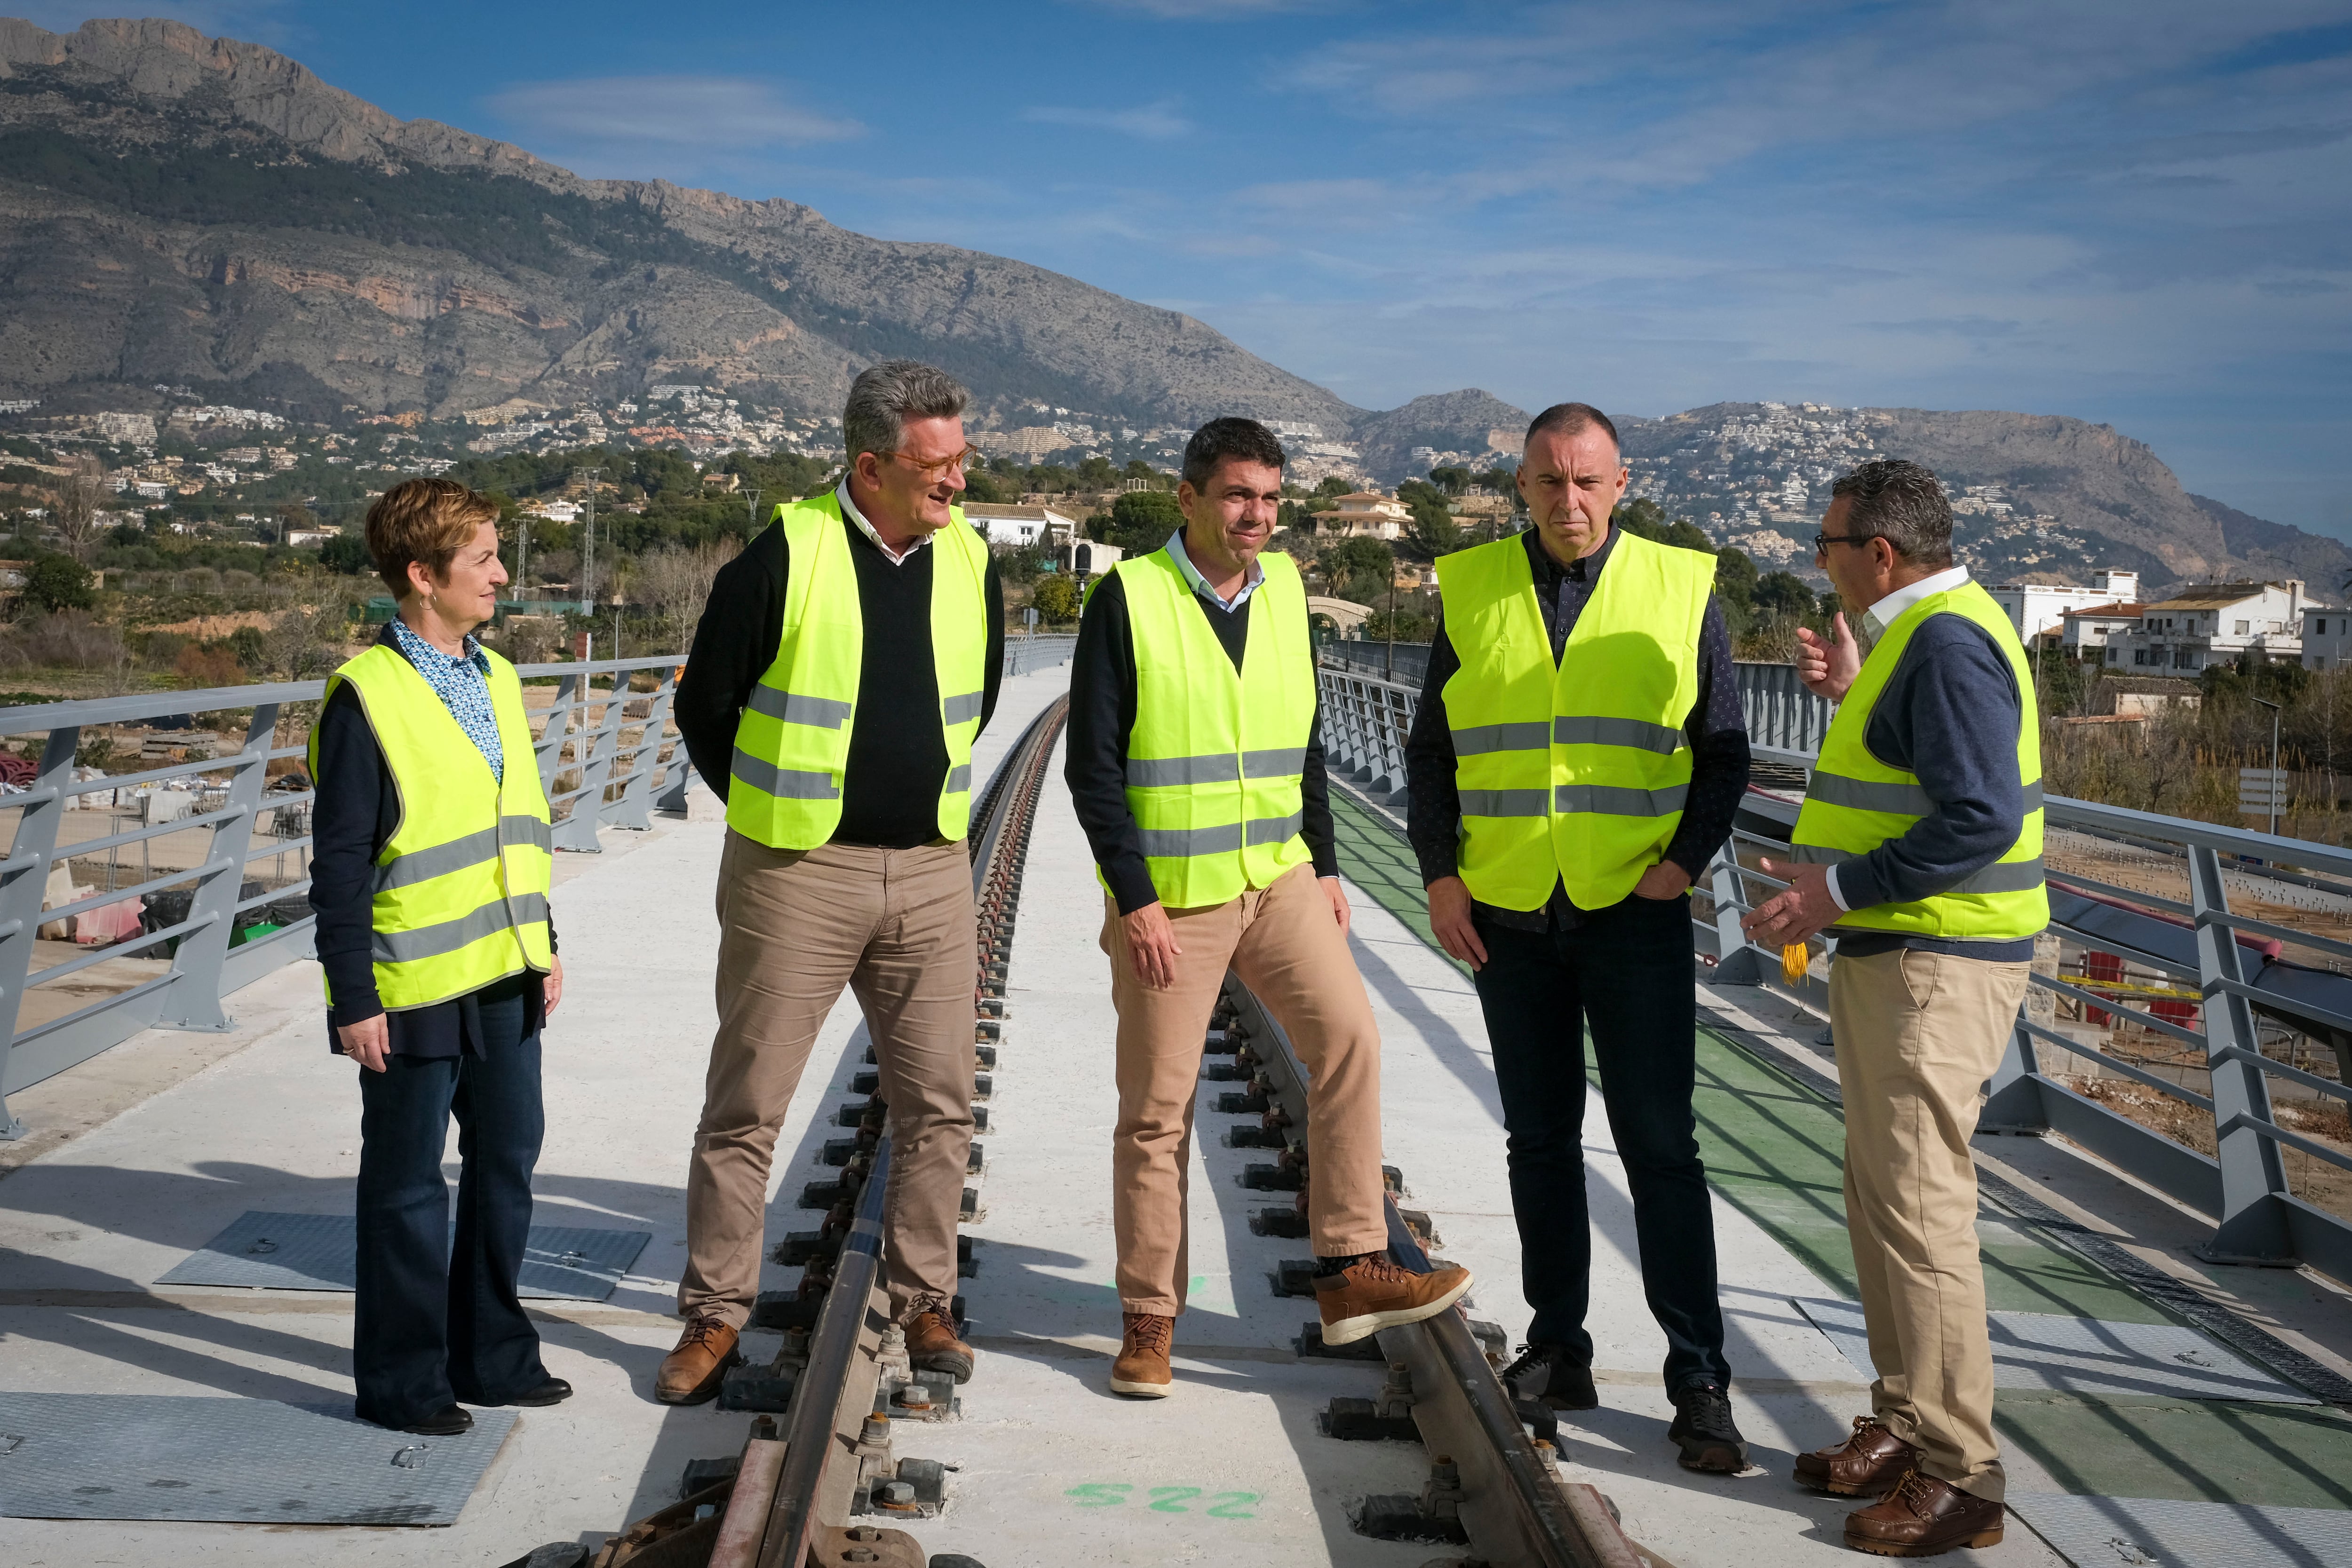
[[[390,1056],[360,1070],[360,1291],[353,1375],[362,1420],[402,1427],[452,1401],[503,1403],[546,1382],[515,1298],[546,1133],[539,1034],[522,985],[480,994],[480,1056]],[[456,1239],[442,1147],[459,1126]]]

